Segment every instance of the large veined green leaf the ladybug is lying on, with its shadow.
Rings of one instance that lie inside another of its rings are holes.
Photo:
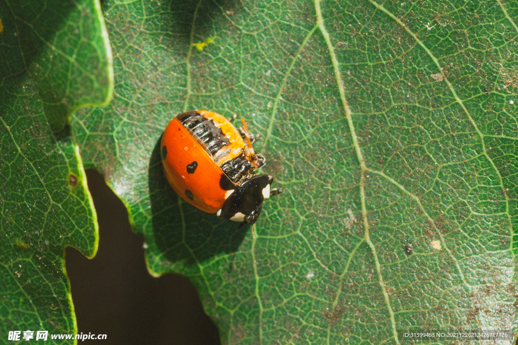
[[[144,236],[150,272],[188,276],[224,343],[515,332],[516,14],[502,2],[107,1],[114,101],[73,128]],[[161,132],[190,109],[261,133],[263,171],[284,192],[255,238],[168,186]]]

